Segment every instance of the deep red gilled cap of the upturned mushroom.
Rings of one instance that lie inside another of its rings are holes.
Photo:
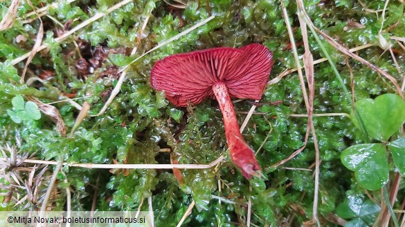
[[[231,97],[260,99],[273,65],[262,44],[242,48],[210,48],[165,57],[152,68],[150,83],[164,90],[174,106],[197,104],[213,97],[213,85],[225,83]]]

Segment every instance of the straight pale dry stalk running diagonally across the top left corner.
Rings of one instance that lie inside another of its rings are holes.
[[[54,39],[55,43],[60,43],[62,41],[64,41],[67,37],[69,37],[71,34],[77,32],[78,30],[88,26],[89,24],[93,23],[94,21],[97,21],[98,19],[105,17],[105,15],[113,12],[114,10],[121,8],[125,5],[127,5],[127,3],[132,2],[133,0],[124,0],[121,1],[120,3],[117,3],[114,6],[111,6],[110,8],[108,8],[105,12],[97,12],[96,14],[94,14],[93,17],[90,17],[89,19],[83,21],[82,23],[80,23],[78,26],[75,26],[75,28],[65,32],[64,34],[62,34],[60,37],[57,37]],[[44,50],[45,48],[48,48],[49,46],[46,44],[43,44],[42,46],[39,46],[39,48],[36,50],[36,52],[39,52],[41,50]],[[28,58],[31,55],[31,52],[27,52],[26,54],[17,57],[16,59],[13,59],[12,61],[10,61],[10,63],[12,65],[15,65],[16,63],[19,63],[20,61],[24,61],[24,59]]]

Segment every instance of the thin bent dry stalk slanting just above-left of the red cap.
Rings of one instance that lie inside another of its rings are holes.
[[[119,72],[124,72],[125,70],[127,70],[127,68],[132,65],[132,63],[138,61],[139,59],[145,57],[145,55],[149,54],[150,52],[153,52],[154,50],[157,50],[159,48],[161,48],[162,46],[165,46],[166,44],[179,39],[180,37],[182,37],[185,34],[188,34],[189,32],[191,32],[192,30],[195,30],[196,28],[199,28],[200,26],[203,26],[204,24],[208,23],[208,21],[214,19],[214,16],[208,17],[207,19],[197,23],[195,26],[192,26],[186,30],[184,30],[183,32],[180,32],[179,34],[175,35],[174,37],[167,39],[165,41],[163,41],[162,43],[159,43],[158,46],[155,46],[154,48],[148,50],[147,52],[143,53],[143,55],[141,55],[140,57],[134,59],[134,61],[132,61],[131,63],[129,63],[127,66],[125,66],[124,68],[122,68]],[[116,97],[116,95],[118,95],[118,93],[120,92],[121,86],[123,86],[123,82],[124,79],[126,78],[126,73],[122,73],[120,75],[120,78],[117,81],[116,87],[114,88],[114,90],[111,91],[111,95],[109,96],[108,100],[105,102],[104,106],[101,108],[100,112],[98,112],[97,115],[92,115],[91,117],[97,117],[100,116],[102,114],[104,114],[105,110],[107,110],[108,106],[112,103],[112,101],[114,100],[114,98]]]

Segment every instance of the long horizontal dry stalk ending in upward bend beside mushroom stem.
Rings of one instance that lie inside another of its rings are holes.
[[[206,169],[212,168],[224,160],[224,156],[219,156],[215,161],[210,164],[69,164],[63,162],[62,166],[69,167],[81,167],[81,168],[100,168],[100,169],[171,169],[171,168],[181,168],[181,169]],[[6,161],[5,158],[0,158],[0,161]],[[46,165],[57,165],[59,161],[46,161],[46,160],[35,160],[35,159],[17,159],[17,161],[22,161],[23,163],[30,164],[46,164]]]

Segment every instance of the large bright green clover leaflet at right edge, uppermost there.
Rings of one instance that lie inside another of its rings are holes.
[[[387,141],[405,121],[405,101],[398,95],[385,94],[372,99],[361,99],[356,108],[368,135],[379,141]],[[360,128],[354,112],[350,114],[354,125]]]

